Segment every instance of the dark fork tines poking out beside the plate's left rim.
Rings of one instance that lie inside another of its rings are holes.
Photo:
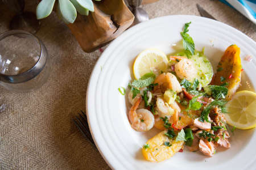
[[[86,114],[81,111],[81,113],[79,113],[79,116],[75,116],[75,118],[73,118],[73,122],[75,123],[77,128],[81,131],[81,133],[84,135],[84,137],[88,139],[88,141],[92,144],[93,147],[96,148],[96,145],[93,142],[92,135],[90,134],[90,129],[89,129]]]

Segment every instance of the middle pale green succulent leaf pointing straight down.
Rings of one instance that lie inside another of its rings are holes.
[[[65,23],[73,23],[76,20],[76,8],[69,0],[59,0],[59,14]]]

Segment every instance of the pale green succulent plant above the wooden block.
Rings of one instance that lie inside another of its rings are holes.
[[[46,18],[51,14],[54,5],[55,0],[42,0],[36,7],[36,18]],[[60,18],[69,24],[75,22],[77,12],[81,15],[88,15],[89,11],[94,11],[94,7],[92,0],[58,0],[56,10]]]

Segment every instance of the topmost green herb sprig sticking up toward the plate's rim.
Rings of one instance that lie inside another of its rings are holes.
[[[185,49],[185,53],[189,53],[188,57],[195,54],[195,43],[191,36],[188,35],[188,27],[190,23],[185,23],[183,32],[180,32],[181,37],[183,38],[183,47]]]

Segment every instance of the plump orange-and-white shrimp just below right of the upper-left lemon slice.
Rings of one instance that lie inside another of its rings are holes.
[[[158,83],[158,86],[154,87],[154,91],[162,91],[163,93],[167,90],[173,90],[177,93],[181,92],[181,86],[176,76],[171,73],[162,73],[156,77],[155,82]]]

